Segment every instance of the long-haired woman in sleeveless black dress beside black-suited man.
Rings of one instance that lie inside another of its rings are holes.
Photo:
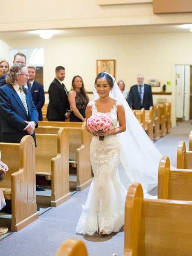
[[[81,76],[74,76],[72,80],[72,88],[68,95],[71,106],[70,122],[84,122],[85,109],[89,102],[89,98],[84,89],[83,79]]]

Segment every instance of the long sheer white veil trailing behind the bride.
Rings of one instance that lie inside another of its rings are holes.
[[[109,96],[121,102],[125,109],[126,131],[118,134],[123,167],[131,182],[139,182],[145,192],[150,191],[157,186],[158,168],[162,154],[145,133],[114,77],[111,77],[113,79],[113,90],[111,90]],[[96,89],[93,93],[95,95],[94,100],[98,99],[99,95]]]

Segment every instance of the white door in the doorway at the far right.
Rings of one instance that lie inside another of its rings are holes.
[[[176,118],[189,120],[190,66],[176,65]]]

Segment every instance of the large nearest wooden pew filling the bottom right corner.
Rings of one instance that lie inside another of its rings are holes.
[[[132,183],[125,202],[123,256],[191,256],[192,201],[145,199]]]

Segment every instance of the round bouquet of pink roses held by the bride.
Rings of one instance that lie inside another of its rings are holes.
[[[112,119],[108,113],[94,113],[87,119],[87,127],[93,133],[94,131],[108,131],[112,127]],[[104,140],[104,136],[99,136],[99,140]]]

